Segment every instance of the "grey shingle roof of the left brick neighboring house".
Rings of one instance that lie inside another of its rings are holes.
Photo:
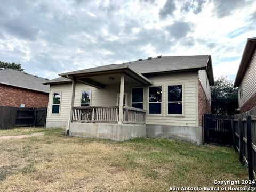
[[[0,70],[0,84],[49,93],[49,86],[43,85],[45,78],[13,69]]]

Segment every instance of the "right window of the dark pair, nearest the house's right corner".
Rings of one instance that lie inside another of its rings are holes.
[[[168,86],[168,114],[182,114],[182,85]]]

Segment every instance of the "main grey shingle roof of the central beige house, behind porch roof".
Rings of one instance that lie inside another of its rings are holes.
[[[210,65],[209,65],[210,64]],[[148,73],[157,72],[174,72],[182,70],[199,70],[207,69],[210,84],[214,84],[211,56],[210,55],[193,55],[193,56],[163,56],[153,59],[137,60],[132,62],[126,62],[122,64],[110,64],[98,66],[96,68],[83,69],[78,71],[71,71],[67,73],[61,73],[60,76],[66,77],[66,75],[99,72],[106,70],[115,70],[123,68],[124,66],[130,66],[132,69],[143,75]]]

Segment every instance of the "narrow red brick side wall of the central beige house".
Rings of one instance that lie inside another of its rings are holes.
[[[202,126],[202,116],[204,113],[211,114],[211,105],[204,92],[203,86],[198,79],[198,122]]]

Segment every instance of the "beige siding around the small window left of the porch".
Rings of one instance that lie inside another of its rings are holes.
[[[60,113],[52,114],[53,93],[61,93]],[[71,106],[71,84],[50,86],[47,121],[68,121]]]

